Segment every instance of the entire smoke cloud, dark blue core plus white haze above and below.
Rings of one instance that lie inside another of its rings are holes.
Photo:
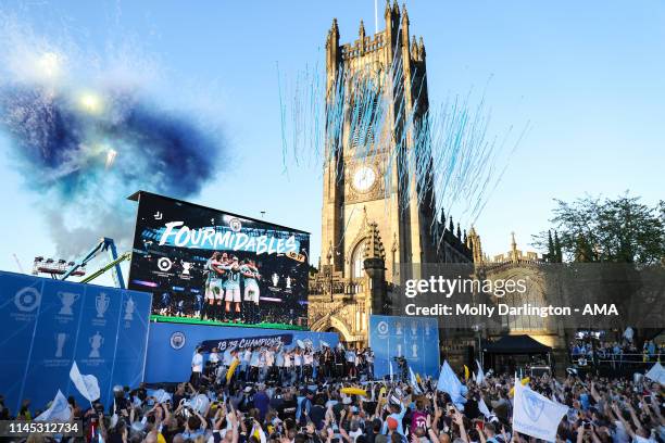
[[[218,112],[189,111],[210,88],[174,88],[183,79],[167,78],[145,36],[118,29],[95,47],[59,28],[43,36],[0,8],[0,161],[25,183],[20,198],[49,230],[35,238],[50,237],[57,258],[102,236],[127,250],[136,217],[128,195],[188,199],[224,170]]]

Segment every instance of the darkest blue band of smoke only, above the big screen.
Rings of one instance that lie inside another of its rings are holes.
[[[0,129],[11,136],[20,169],[36,191],[55,190],[66,204],[115,175],[187,197],[213,177],[222,147],[204,128],[133,98],[105,97],[112,97],[111,109],[98,115],[38,87],[0,88]]]

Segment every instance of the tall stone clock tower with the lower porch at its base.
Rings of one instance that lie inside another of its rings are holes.
[[[310,282],[309,325],[359,345],[366,344],[368,315],[391,313],[400,264],[473,257],[461,235],[446,229],[444,216],[437,219],[428,151],[413,151],[428,109],[423,39],[410,36],[405,7],[387,3],[384,17],[382,31],[366,36],[361,22],[359,38],[347,45],[334,20],[326,39],[326,99],[343,96],[347,104],[337,117],[339,136],[325,138],[322,254]],[[357,107],[379,105],[380,124],[357,123],[361,113],[378,114]],[[326,121],[330,126],[329,115]]]

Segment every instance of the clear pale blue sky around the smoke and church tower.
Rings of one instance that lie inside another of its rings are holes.
[[[531,125],[476,224],[486,252],[504,252],[511,231],[526,245],[548,227],[554,198],[627,189],[649,204],[665,197],[665,3],[417,0],[407,9],[425,40],[430,101],[486,88],[491,131]],[[356,38],[361,18],[369,34],[373,0],[5,0],[0,12],[46,40],[145,54],[158,66],[156,100],[215,122],[230,150],[218,179],[191,200],[254,217],[265,211],[311,231],[318,255],[319,172],[284,174],[276,64],[285,77],[312,65],[332,17],[343,42]],[[54,246],[2,134],[0,153],[0,269],[16,270],[13,253],[28,267]]]

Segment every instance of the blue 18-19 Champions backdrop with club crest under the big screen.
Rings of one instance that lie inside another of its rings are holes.
[[[335,332],[152,322],[148,339],[146,381],[161,383],[189,380],[191,357],[198,345],[203,345],[204,352],[219,344],[244,347],[281,342],[289,349],[296,346],[297,340],[311,340],[314,347],[318,349],[322,340],[330,346],[337,346],[339,337]]]

